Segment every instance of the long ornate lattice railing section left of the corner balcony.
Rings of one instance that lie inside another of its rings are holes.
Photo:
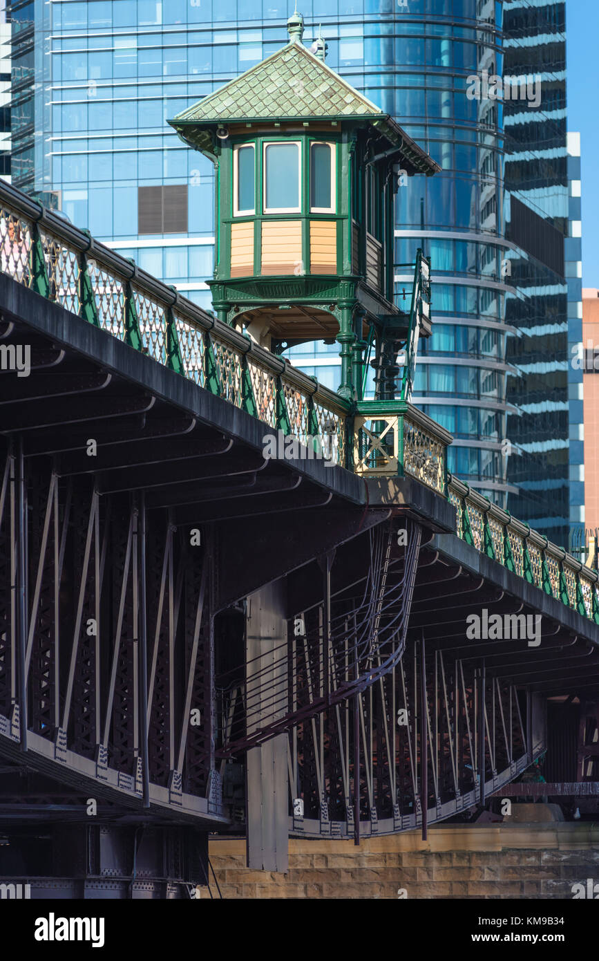
[[[2,182],[0,252],[13,280],[346,463],[346,401]]]

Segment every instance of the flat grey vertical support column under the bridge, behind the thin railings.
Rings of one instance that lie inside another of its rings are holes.
[[[272,721],[286,712],[285,580],[250,595],[247,611],[246,702],[252,733],[263,719]],[[248,752],[248,867],[258,871],[286,872],[289,867],[287,739],[287,733],[278,734]]]

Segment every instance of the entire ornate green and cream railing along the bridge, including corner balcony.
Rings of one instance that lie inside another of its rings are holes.
[[[422,304],[430,301],[428,270],[420,257],[411,314],[414,331]],[[417,407],[406,401],[352,406],[288,360],[222,324],[175,287],[157,281],[133,260],[4,182],[0,271],[274,430],[293,433],[306,445],[319,438],[328,456],[357,474],[417,478],[455,506],[461,538],[599,624],[597,574],[467,484],[450,478],[446,448],[452,437]],[[404,372],[406,393],[411,369],[408,365]]]

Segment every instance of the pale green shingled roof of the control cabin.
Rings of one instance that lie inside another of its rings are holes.
[[[188,123],[273,117],[352,116],[385,114],[301,43],[291,42],[227,86],[178,113],[171,123],[178,128]]]

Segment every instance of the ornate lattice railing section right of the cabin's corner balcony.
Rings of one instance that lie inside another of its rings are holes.
[[[579,560],[448,474],[459,537],[549,597],[599,624],[599,577]]]

